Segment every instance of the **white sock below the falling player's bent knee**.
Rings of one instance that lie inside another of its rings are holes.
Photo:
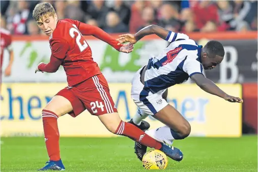
[[[163,126],[156,129],[150,129],[145,131],[148,135],[153,137],[156,141],[162,142],[167,145],[172,145],[175,140],[171,134],[170,128],[168,126]]]

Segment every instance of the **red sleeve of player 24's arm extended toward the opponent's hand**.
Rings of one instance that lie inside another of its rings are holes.
[[[120,48],[122,47],[122,45],[118,45],[119,42],[116,39],[112,38],[107,32],[105,32],[97,26],[79,22],[77,28],[79,29],[82,35],[92,35],[108,43],[118,51],[120,51]]]

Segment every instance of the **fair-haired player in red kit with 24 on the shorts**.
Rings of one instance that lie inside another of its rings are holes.
[[[91,48],[82,35],[92,35],[125,53],[133,50],[132,45],[118,46],[118,41],[96,26],[71,19],[58,20],[49,3],[38,4],[33,11],[33,18],[39,28],[49,36],[51,48],[50,62],[40,63],[35,73],[53,73],[62,65],[68,81],[68,87],[59,91],[42,110],[45,143],[50,159],[39,170],[65,169],[60,156],[57,120],[67,113],[76,117],[84,110],[99,117],[110,132],[128,136],[142,145],[159,149],[177,159],[180,150],[155,141],[133,124],[121,120],[110,96],[107,81],[93,60]]]

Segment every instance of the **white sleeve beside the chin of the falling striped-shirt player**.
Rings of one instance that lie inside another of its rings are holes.
[[[196,59],[191,59],[187,57],[183,64],[183,70],[189,75],[189,77],[191,77],[194,74],[203,74],[204,67],[202,63],[200,63]]]

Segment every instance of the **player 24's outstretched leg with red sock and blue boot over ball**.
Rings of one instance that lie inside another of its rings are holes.
[[[122,121],[118,113],[109,113],[99,115],[98,117],[106,128],[114,134],[128,136],[133,141],[142,145],[161,150],[167,156],[176,161],[181,161],[183,159],[183,154],[179,149],[171,149],[167,145],[156,141],[135,125]]]

